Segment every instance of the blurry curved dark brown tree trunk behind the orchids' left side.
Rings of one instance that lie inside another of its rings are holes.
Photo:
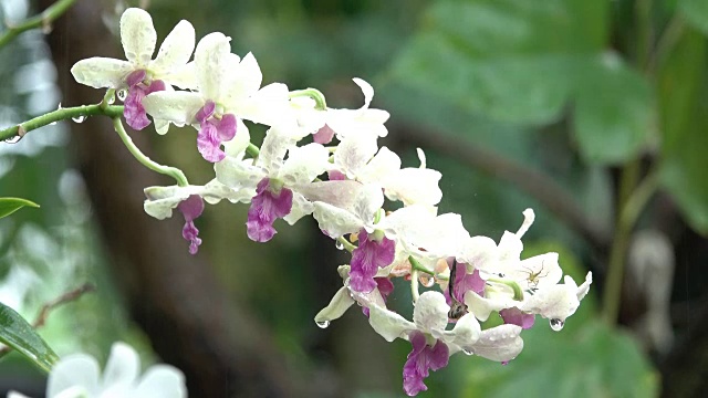
[[[52,2],[42,0],[40,7]],[[100,2],[79,1],[48,38],[67,106],[97,103],[103,95],[73,81],[74,62],[123,57],[101,12]],[[72,130],[75,161],[129,313],[156,353],[186,374],[189,396],[304,395],[299,380],[308,378],[288,369],[269,331],[227,298],[204,254],[187,253],[180,214],[157,221],[144,213],[143,188],[174,181],[135,161],[107,118],[72,125]],[[133,137],[149,154],[148,134]]]

